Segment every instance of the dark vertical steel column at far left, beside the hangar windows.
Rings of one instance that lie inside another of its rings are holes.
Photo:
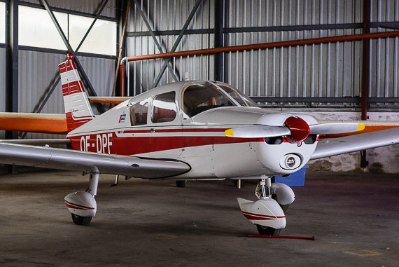
[[[6,2],[6,112],[18,112],[18,0]],[[6,139],[18,132],[6,131]]]

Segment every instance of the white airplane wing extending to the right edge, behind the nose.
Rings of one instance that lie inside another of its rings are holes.
[[[399,128],[366,132],[318,142],[311,160],[399,143]]]

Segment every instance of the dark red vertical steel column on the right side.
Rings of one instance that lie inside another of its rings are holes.
[[[370,33],[370,0],[363,0],[363,34]],[[362,121],[367,121],[367,97],[368,97],[368,76],[369,76],[369,54],[370,54],[370,41],[369,39],[363,39],[363,51],[362,51]],[[360,167],[367,167],[367,159],[365,150],[361,152]]]

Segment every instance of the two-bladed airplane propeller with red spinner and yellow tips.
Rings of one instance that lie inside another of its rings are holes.
[[[357,132],[365,128],[359,123],[325,123],[308,125],[302,118],[290,116],[279,125],[251,125],[225,130],[228,137],[237,138],[267,138],[286,137],[290,143],[302,142],[309,135],[330,135],[346,132]]]

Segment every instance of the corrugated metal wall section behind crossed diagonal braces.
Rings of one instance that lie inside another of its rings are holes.
[[[133,1],[132,1],[133,2]],[[138,1],[139,6],[132,4],[128,32],[148,32],[144,20],[141,18],[139,8],[144,12],[153,31],[176,31],[169,35],[158,35],[156,39],[162,47],[163,53],[169,52],[179,36],[179,30],[185,24],[188,15],[195,6],[195,0],[160,0]],[[149,8],[148,8],[149,7]],[[188,29],[214,28],[214,1],[202,1]],[[185,34],[176,48],[177,51],[197,50],[212,48],[214,34]],[[160,53],[153,41],[153,37],[133,36],[127,39],[127,55],[151,55]],[[137,95],[144,90],[153,88],[158,73],[165,60],[146,60],[130,62],[130,95]],[[193,80],[207,80],[214,78],[214,57],[211,55],[176,57],[170,65],[179,81],[186,78]],[[174,81],[171,69],[166,69],[160,80],[160,85]]]

